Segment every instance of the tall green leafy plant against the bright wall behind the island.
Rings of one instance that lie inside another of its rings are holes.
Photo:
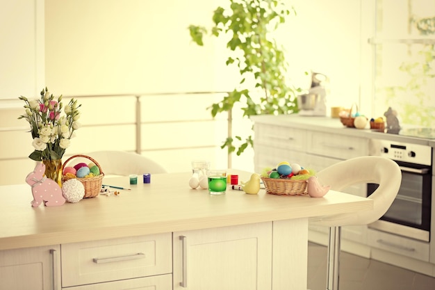
[[[213,13],[213,26],[190,25],[192,40],[204,45],[204,35],[229,38],[227,48],[230,56],[226,65],[236,65],[240,72],[237,88],[228,92],[224,98],[212,104],[211,115],[229,112],[236,103],[241,105],[243,116],[249,118],[260,114],[296,113],[297,92],[299,89],[288,84],[287,63],[284,51],[272,37],[279,24],[295,10],[286,8],[279,0],[229,0],[227,8],[217,7]],[[243,142],[237,155],[253,145],[252,135],[235,136]],[[228,136],[221,146],[228,147],[228,154],[236,151],[232,136]]]

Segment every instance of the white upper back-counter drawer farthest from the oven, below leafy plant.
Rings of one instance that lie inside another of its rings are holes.
[[[297,151],[304,151],[306,147],[304,130],[269,124],[256,124],[254,129],[256,144]]]

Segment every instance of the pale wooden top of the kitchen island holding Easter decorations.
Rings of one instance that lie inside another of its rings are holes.
[[[228,170],[247,181],[250,172]],[[225,195],[188,186],[190,172],[151,175],[150,184],[104,177],[103,184],[131,188],[58,207],[31,207],[27,184],[0,186],[0,250],[309,218],[370,210],[373,202],[329,191],[323,198],[257,195],[227,188]]]

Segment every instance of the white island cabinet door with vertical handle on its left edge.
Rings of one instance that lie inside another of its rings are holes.
[[[174,290],[268,290],[272,223],[174,232]]]

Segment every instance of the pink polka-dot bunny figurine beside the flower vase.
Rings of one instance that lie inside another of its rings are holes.
[[[44,177],[44,172],[44,163],[38,163],[33,172],[26,177],[26,183],[32,186],[32,207],[39,207],[42,202],[47,207],[64,204],[65,198],[63,198],[59,184],[53,179]]]

